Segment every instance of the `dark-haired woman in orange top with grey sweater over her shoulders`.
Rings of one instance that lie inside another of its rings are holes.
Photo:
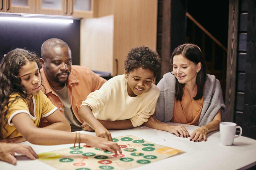
[[[157,84],[160,96],[155,118],[162,122],[201,126],[190,135],[184,126],[175,129],[183,137],[190,136],[190,141],[206,141],[206,134],[219,129],[227,112],[219,80],[206,74],[205,59],[194,44],[175,48],[170,71]]]

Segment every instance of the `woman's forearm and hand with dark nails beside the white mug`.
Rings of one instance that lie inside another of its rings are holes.
[[[190,135],[190,141],[200,142],[202,139],[206,141],[206,134],[219,129],[219,123],[221,122],[221,108],[217,112],[216,116],[211,122],[205,126],[194,130]]]

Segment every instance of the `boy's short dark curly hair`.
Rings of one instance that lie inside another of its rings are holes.
[[[125,70],[129,73],[138,68],[149,69],[156,77],[161,71],[162,61],[157,52],[149,47],[132,48],[125,59]]]

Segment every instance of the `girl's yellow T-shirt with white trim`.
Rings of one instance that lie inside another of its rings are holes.
[[[14,100],[15,96],[17,96],[17,94],[10,95],[9,101]],[[49,116],[50,114],[52,114],[54,111],[57,110],[57,107],[55,107],[51,103],[51,101],[47,98],[47,96],[43,94],[43,92],[41,91],[39,92],[38,95],[33,96],[32,100],[33,100],[33,106],[34,106],[33,115],[29,113],[29,107],[27,105],[27,102],[22,98],[17,98],[17,100],[9,104],[9,110],[6,115],[6,118],[8,121],[5,126],[7,133],[6,133],[6,130],[3,129],[3,125],[5,124],[5,122],[2,122],[2,125],[1,125],[4,138],[14,138],[14,137],[22,136],[18,132],[18,130],[13,126],[13,123],[11,122],[11,119],[15,115],[19,113],[27,113],[30,116],[31,120],[34,122],[34,124],[38,127],[41,117]],[[6,108],[7,107],[5,107],[5,109]]]

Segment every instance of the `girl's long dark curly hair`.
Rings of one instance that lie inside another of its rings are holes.
[[[21,85],[21,78],[18,77],[19,71],[27,62],[35,61],[40,68],[40,62],[37,55],[25,49],[16,48],[3,57],[0,64],[0,122],[5,129],[7,124],[6,115],[8,114],[9,104],[13,103],[18,98],[25,100],[31,94],[29,94],[26,88]],[[40,71],[40,70],[39,70]],[[11,94],[18,94],[14,100],[10,100]],[[5,110],[5,107],[7,109]],[[1,139],[5,136],[0,128]]]

